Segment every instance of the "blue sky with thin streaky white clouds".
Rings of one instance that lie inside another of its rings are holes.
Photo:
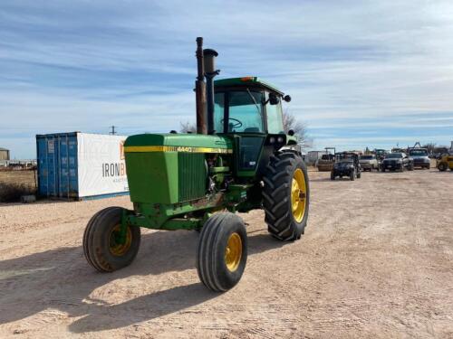
[[[194,121],[197,36],[222,77],[290,94],[314,148],[453,140],[451,1],[3,0],[0,147]]]

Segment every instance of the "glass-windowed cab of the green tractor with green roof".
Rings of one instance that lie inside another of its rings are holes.
[[[284,133],[282,101],[291,97],[275,86],[243,77],[217,80],[214,90],[213,133],[232,138],[237,175],[255,176],[275,150],[297,144],[294,133]]]

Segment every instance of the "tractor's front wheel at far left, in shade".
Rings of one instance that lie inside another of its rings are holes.
[[[108,207],[92,216],[83,233],[83,252],[93,268],[113,272],[135,259],[140,248],[140,227],[127,225],[121,237],[121,207]],[[123,238],[123,239],[121,239]]]

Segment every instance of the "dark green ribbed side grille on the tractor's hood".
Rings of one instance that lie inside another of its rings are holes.
[[[178,154],[179,202],[198,199],[206,193],[205,155]]]

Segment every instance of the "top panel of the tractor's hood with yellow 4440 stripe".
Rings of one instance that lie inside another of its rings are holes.
[[[232,153],[232,149],[231,140],[227,137],[201,134],[140,134],[128,137],[124,143],[125,153]]]

